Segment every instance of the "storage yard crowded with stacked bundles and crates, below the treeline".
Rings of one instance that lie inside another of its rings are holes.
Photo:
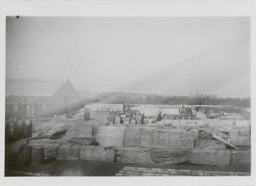
[[[212,119],[180,106],[91,108],[20,121],[27,136],[6,143],[6,176],[250,175],[250,120],[244,117]]]

